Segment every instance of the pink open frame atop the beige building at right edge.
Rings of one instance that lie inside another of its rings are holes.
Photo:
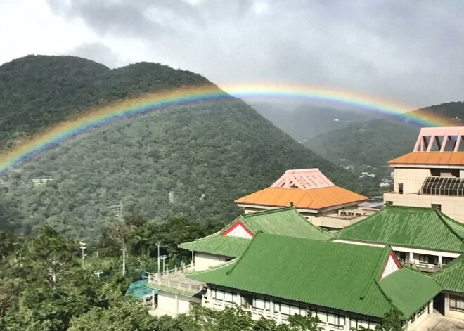
[[[452,151],[458,152],[463,136],[464,126],[422,128],[413,151],[432,152],[434,143],[437,143],[439,152],[450,151],[450,144]]]

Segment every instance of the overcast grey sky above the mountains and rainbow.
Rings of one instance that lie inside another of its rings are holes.
[[[0,0],[0,63],[150,61],[219,84],[311,84],[406,103],[464,100],[464,1]]]

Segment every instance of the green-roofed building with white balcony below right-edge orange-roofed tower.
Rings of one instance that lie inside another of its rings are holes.
[[[402,263],[436,272],[464,253],[464,224],[434,208],[387,205],[335,233],[335,241],[390,245]]]

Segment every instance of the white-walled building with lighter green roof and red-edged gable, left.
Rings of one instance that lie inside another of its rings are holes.
[[[335,238],[307,221],[295,207],[284,207],[238,216],[217,233],[179,247],[194,252],[195,271],[205,270],[239,257],[257,231],[314,240]]]

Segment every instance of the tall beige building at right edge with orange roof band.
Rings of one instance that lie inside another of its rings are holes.
[[[423,128],[413,152],[389,161],[394,190],[385,203],[435,207],[464,223],[464,127]]]

